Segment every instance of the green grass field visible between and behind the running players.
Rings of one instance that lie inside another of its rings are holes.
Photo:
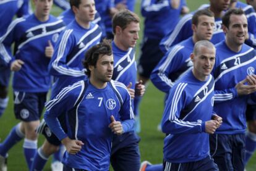
[[[207,3],[207,0],[187,0],[187,4],[190,11],[197,9],[200,4]],[[137,0],[137,6],[135,12],[140,14],[140,0]],[[57,7],[53,7],[52,13],[58,15],[61,10]],[[141,23],[140,40],[142,40],[142,30],[143,22]],[[139,54],[139,46],[137,48],[137,53]],[[0,138],[4,140],[8,135],[11,128],[19,121],[14,117],[13,102],[12,102],[12,89],[9,89],[9,105],[6,112],[0,119]],[[164,134],[156,130],[158,123],[161,120],[163,112],[163,97],[164,94],[156,90],[156,88],[150,83],[147,87],[147,92],[143,97],[142,104],[140,106],[140,120],[142,131],[140,133],[140,152],[142,161],[150,161],[152,164],[161,163],[163,160],[163,138]],[[43,136],[40,135],[38,140],[38,146],[43,143]],[[23,157],[22,149],[23,141],[20,141],[9,151],[8,157],[8,170],[28,170]],[[247,170],[256,170],[256,156],[252,157],[249,164],[247,165]],[[50,169],[50,162],[46,164],[44,170]],[[132,171],[132,170],[131,170]]]

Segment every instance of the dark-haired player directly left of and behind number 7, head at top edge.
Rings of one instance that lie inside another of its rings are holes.
[[[93,0],[70,0],[75,14],[73,20],[59,36],[53,58],[49,64],[49,72],[54,76],[54,85],[51,91],[53,99],[62,88],[84,80],[85,69],[82,60],[85,52],[95,44],[100,43],[101,29],[92,23],[95,19],[95,2]],[[66,125],[66,114],[60,115],[62,127]],[[45,122],[38,128],[45,135],[46,140],[36,152],[32,169],[43,170],[49,156],[58,151],[61,141],[49,130]]]

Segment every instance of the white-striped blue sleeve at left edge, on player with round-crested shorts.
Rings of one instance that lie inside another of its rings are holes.
[[[16,31],[18,30],[17,25],[23,20],[23,18],[14,20],[7,28],[6,33],[0,38],[0,58],[2,66],[10,67],[12,61],[15,60],[14,56],[12,56],[11,46],[15,40],[19,39],[20,32]]]

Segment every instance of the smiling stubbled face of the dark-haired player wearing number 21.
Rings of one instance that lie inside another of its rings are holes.
[[[241,46],[247,38],[248,28],[245,15],[231,14],[229,18],[229,27],[223,25],[223,31],[226,34],[226,41],[233,46]]]

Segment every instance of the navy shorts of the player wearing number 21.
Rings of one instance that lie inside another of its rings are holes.
[[[210,153],[220,170],[244,171],[245,134],[210,135]]]

